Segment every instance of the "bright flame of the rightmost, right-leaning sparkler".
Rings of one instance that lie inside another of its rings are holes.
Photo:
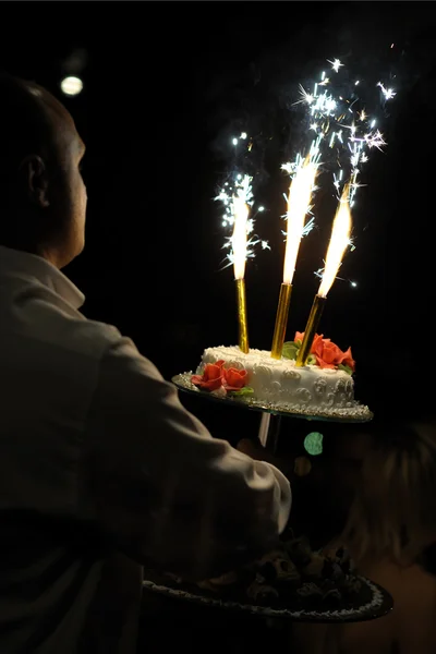
[[[343,254],[350,245],[351,211],[349,205],[349,184],[346,184],[331,228],[330,243],[327,250],[326,266],[319,284],[318,295],[327,298],[342,262]]]

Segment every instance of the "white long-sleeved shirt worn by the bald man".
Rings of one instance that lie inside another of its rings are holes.
[[[101,651],[126,654],[123,625],[105,625],[98,608],[112,556],[207,577],[264,550],[289,517],[283,475],[213,439],[131,340],[80,313],[83,302],[47,261],[0,246],[8,654],[85,653],[97,622],[113,634]]]

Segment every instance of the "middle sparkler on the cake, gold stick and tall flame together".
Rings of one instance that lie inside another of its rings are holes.
[[[289,189],[287,211],[287,244],[284,253],[283,281],[280,287],[279,304],[277,307],[276,326],[272,337],[271,356],[281,359],[281,351],[288,326],[289,305],[292,293],[292,279],[295,271],[296,257],[304,230],[304,220],[310,208],[312,190],[315,183],[316,166],[304,162]]]

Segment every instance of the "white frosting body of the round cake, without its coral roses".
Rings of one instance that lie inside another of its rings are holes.
[[[354,400],[353,378],[342,370],[316,364],[298,367],[293,360],[272,359],[269,351],[250,350],[244,354],[238,347],[221,346],[205,350],[197,375],[204,374],[207,364],[217,362],[223,362],[226,371],[246,371],[245,387],[252,392],[243,399],[253,404],[314,416],[371,417],[368,408]],[[213,392],[220,395],[222,390]]]

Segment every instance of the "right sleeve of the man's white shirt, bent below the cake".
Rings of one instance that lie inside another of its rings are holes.
[[[281,472],[213,438],[129,339],[101,361],[86,431],[93,510],[138,562],[210,577],[263,554],[286,526]]]

